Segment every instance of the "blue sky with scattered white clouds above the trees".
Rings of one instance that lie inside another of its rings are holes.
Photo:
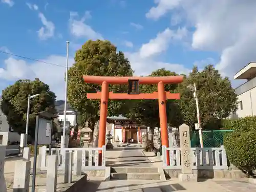
[[[0,0],[0,50],[65,66],[67,40],[71,65],[76,49],[101,38],[125,53],[136,75],[161,67],[189,73],[194,65],[211,63],[232,79],[255,60],[256,3],[216,1]],[[0,53],[1,89],[20,78],[38,77],[63,98],[64,72],[63,67]]]

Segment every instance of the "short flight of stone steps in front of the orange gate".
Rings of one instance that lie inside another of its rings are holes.
[[[111,179],[160,180],[157,167],[111,167]]]

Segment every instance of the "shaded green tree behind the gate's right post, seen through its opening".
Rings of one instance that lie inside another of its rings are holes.
[[[175,72],[165,70],[164,68],[153,71],[149,76],[175,76],[178,75]],[[177,93],[177,84],[165,84],[165,91],[172,93]],[[141,93],[153,93],[157,92],[156,84],[143,84],[140,86]],[[166,113],[167,113],[167,123],[173,127],[179,127],[183,123],[183,118],[180,111],[180,101],[179,100],[167,100],[166,102]],[[145,124],[150,127],[148,133],[148,142],[153,148],[153,135],[155,127],[160,127],[159,121],[159,108],[158,100],[136,100],[134,102],[133,108],[126,116]]]

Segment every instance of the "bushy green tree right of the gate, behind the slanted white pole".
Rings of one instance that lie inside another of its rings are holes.
[[[182,114],[185,123],[190,127],[195,127],[197,122],[196,102],[193,97],[194,82],[197,86],[202,127],[214,129],[211,125],[216,123],[215,127],[218,128],[217,122],[221,124],[219,119],[226,118],[237,110],[237,95],[231,87],[231,82],[227,77],[222,78],[212,65],[206,66],[201,72],[194,67],[179,86]]]

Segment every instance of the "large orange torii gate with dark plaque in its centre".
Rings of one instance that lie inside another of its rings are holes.
[[[183,81],[183,76],[166,77],[111,77],[111,76],[87,76],[83,75],[84,82],[101,84],[101,92],[88,93],[88,99],[100,99],[100,119],[99,119],[99,147],[105,145],[106,117],[108,113],[109,99],[158,99],[159,118],[161,127],[162,145],[169,147],[166,99],[180,99],[179,93],[165,92],[164,84],[177,84]],[[109,92],[109,84],[128,84],[128,93]],[[157,84],[158,92],[139,93],[139,84]],[[101,154],[99,154],[101,157]],[[169,153],[166,154],[169,165]],[[101,158],[99,158],[101,159]]]

